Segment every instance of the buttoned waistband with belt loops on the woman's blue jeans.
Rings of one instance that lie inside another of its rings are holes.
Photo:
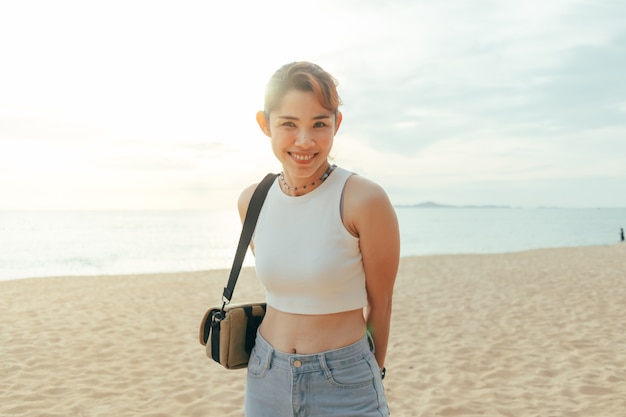
[[[291,369],[293,372],[305,373],[325,370],[328,367],[349,365],[359,361],[373,354],[374,344],[368,332],[351,345],[325,352],[301,355],[274,349],[258,332],[254,349],[257,355],[268,359],[270,367]]]

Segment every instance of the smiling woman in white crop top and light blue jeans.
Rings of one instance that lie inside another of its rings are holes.
[[[248,364],[248,417],[389,415],[398,222],[378,185],[329,162],[339,104],[330,74],[294,62],[272,76],[257,114],[283,172],[251,244],[268,307]],[[255,187],[239,198],[242,219]]]

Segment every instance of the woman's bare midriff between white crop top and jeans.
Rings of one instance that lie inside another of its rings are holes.
[[[261,335],[285,353],[309,355],[349,346],[365,335],[363,310],[334,314],[292,314],[267,307]]]

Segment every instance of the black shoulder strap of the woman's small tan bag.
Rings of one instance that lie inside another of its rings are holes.
[[[224,293],[222,295],[224,305],[222,306],[222,310],[224,310],[226,304],[230,303],[230,300],[233,297],[235,284],[237,284],[237,278],[239,277],[239,272],[241,271],[241,265],[243,264],[246,252],[248,251],[248,246],[250,246],[250,241],[252,240],[252,235],[254,234],[254,228],[256,227],[261,207],[263,207],[265,196],[277,176],[278,174],[267,174],[259,185],[257,185],[254,193],[252,194],[250,204],[248,205],[248,211],[246,211],[246,218],[243,221],[239,244],[237,245],[237,253],[235,254],[235,259],[233,260],[233,267],[230,270],[228,283],[226,284],[226,287],[224,287]]]

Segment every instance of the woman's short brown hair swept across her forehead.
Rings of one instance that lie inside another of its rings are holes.
[[[270,112],[294,89],[311,91],[322,107],[336,115],[341,105],[337,84],[337,80],[317,64],[306,61],[285,64],[272,75],[265,88],[265,118],[269,119]]]

